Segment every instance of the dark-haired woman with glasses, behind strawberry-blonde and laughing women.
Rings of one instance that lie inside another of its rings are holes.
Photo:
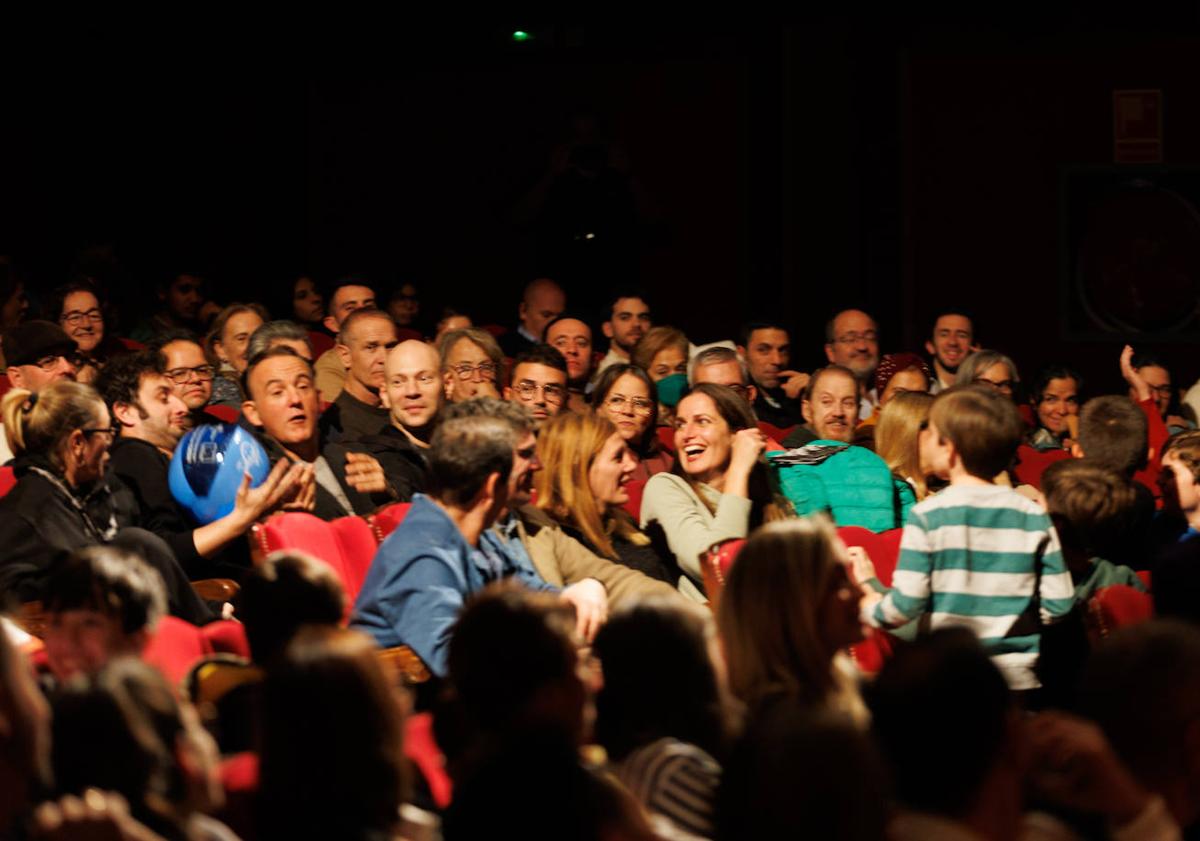
[[[659,402],[649,374],[625,362],[610,365],[595,380],[592,406],[598,415],[613,422],[637,458],[634,480],[644,482],[655,473],[671,469],[674,456],[656,434]]]

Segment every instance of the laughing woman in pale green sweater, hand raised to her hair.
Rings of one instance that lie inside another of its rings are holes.
[[[751,481],[766,437],[737,394],[701,384],[679,402],[674,443],[674,469],[646,483],[641,525],[666,541],[683,572],[680,591],[702,601],[701,554],[722,540],[745,537],[770,501]]]

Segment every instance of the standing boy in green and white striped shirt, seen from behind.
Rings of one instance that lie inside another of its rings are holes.
[[[920,461],[950,485],[912,509],[892,589],[868,594],[863,619],[964,625],[1012,689],[1032,690],[1040,627],[1070,612],[1074,587],[1046,512],[992,481],[1022,434],[1016,407],[997,391],[955,386],[935,398]]]

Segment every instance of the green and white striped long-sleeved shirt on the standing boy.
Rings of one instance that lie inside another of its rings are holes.
[[[1040,506],[1000,485],[952,485],[912,509],[892,589],[864,619],[968,627],[1009,686],[1036,689],[1040,627],[1074,602],[1058,535]]]

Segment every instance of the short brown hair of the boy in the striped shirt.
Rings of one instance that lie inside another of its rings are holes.
[[[929,421],[954,444],[972,476],[991,479],[1006,470],[1025,435],[1013,401],[985,385],[954,385],[929,407]]]

